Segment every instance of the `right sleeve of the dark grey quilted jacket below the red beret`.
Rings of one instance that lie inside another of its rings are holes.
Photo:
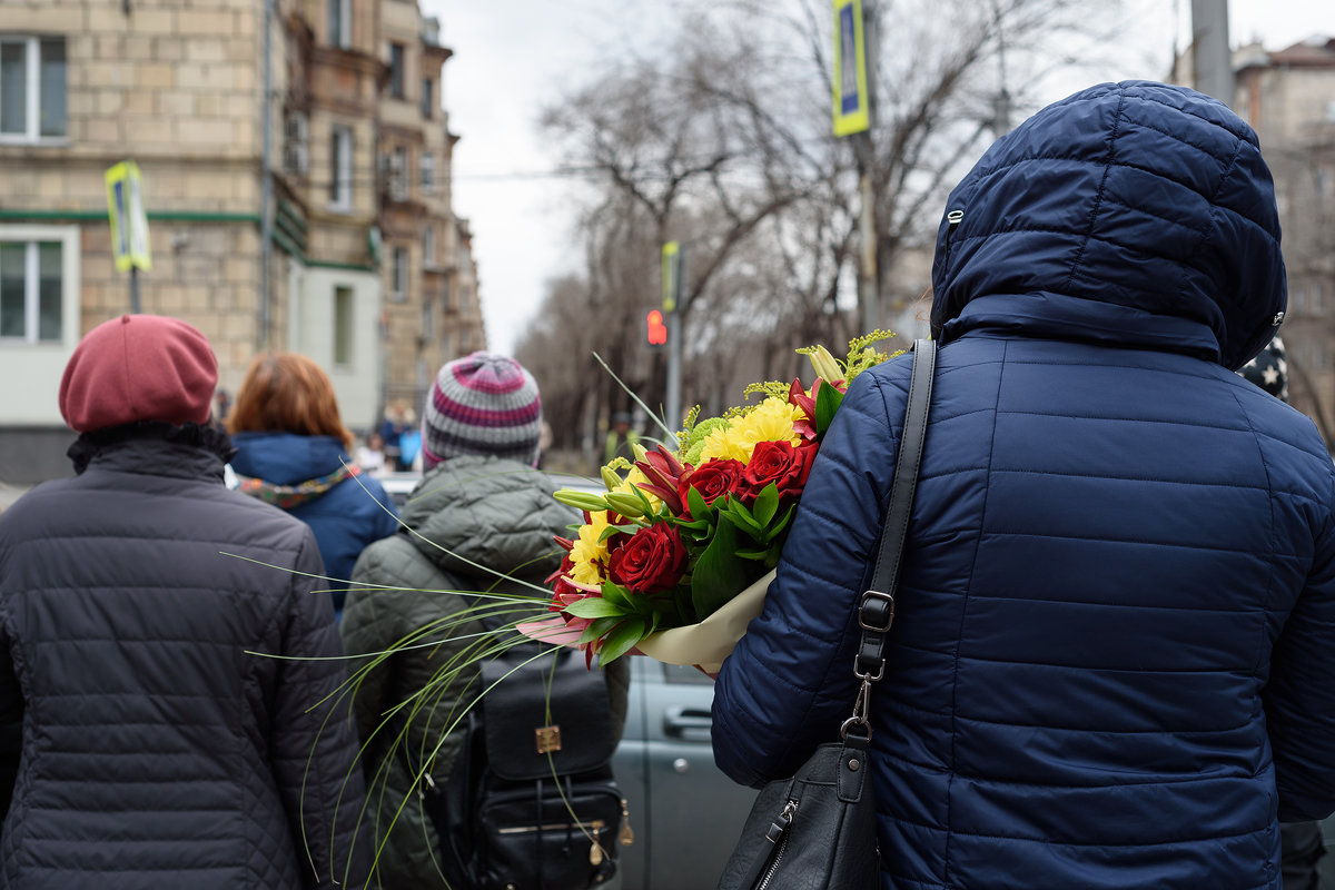
[[[339,698],[343,648],[328,596],[315,595],[323,575],[314,535],[296,558],[274,693],[274,778],[292,835],[306,845],[307,887],[360,886],[367,845],[356,837],[363,799],[356,731]],[[306,576],[314,575],[314,576]]]

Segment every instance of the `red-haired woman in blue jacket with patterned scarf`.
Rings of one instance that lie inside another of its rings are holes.
[[[240,490],[282,507],[315,532],[342,618],[352,566],[368,544],[399,528],[384,487],[348,456],[334,383],[296,352],[256,356],[227,419]]]

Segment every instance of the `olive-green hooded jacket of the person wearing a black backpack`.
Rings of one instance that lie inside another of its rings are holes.
[[[418,632],[431,628],[418,646],[396,651],[360,678],[354,702],[367,770],[367,822],[378,826],[383,841],[372,885],[384,890],[443,887],[431,859],[427,838],[435,829],[413,798],[414,787],[403,755],[394,739],[403,731],[403,713],[386,721],[386,713],[421,691],[431,675],[461,658],[470,644],[487,638],[478,620],[459,622],[475,595],[447,591],[498,591],[534,596],[546,603],[542,584],[561,564],[554,535],[565,535],[579,514],[551,498],[557,486],[549,476],[515,460],[459,456],[431,470],[402,511],[407,528],[375,542],[362,552],[352,570],[339,626],[348,655],[384,652]],[[482,566],[503,571],[522,582],[498,580]],[[356,584],[367,588],[358,590]],[[383,586],[376,590],[370,586]],[[466,618],[466,615],[465,615]],[[371,659],[367,659],[371,660]],[[356,670],[359,662],[352,662]],[[598,670],[597,667],[594,670]],[[625,659],[605,670],[613,723],[619,734],[626,717],[630,669]],[[477,698],[477,671],[466,671],[446,689],[433,691],[422,713],[407,722],[406,742],[414,765],[422,751],[439,745],[431,775],[445,782],[458,753],[458,734],[441,739],[450,715]],[[402,807],[402,811],[400,811]],[[390,826],[392,825],[392,829]]]

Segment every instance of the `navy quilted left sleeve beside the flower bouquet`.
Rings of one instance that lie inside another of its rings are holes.
[[[908,370],[905,359],[896,360]],[[904,412],[904,387],[860,376],[812,467],[765,611],[716,683],[714,759],[738,782],[788,775],[838,738],[856,687],[854,608],[881,534]]]

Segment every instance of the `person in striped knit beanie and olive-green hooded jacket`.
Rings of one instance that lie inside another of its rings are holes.
[[[561,567],[557,536],[579,522],[575,510],[553,498],[561,486],[534,466],[541,438],[538,384],[518,362],[474,352],[447,363],[422,406],[425,472],[403,504],[402,527],[362,551],[352,568],[339,632],[347,655],[363,659],[352,711],[364,741],[378,886],[441,886],[442,839],[418,802],[418,770],[429,769],[435,787],[450,782],[463,730],[451,731],[449,715],[479,693],[479,646],[493,646],[479,640],[489,632],[503,639],[515,616],[515,606],[505,602],[483,615],[490,600],[481,594],[531,598]],[[419,644],[427,639],[429,646]],[[618,738],[629,662],[597,671],[607,683]],[[459,666],[467,667],[439,682]],[[384,721],[391,711],[392,731]],[[429,766],[421,766],[422,751],[434,751]]]

